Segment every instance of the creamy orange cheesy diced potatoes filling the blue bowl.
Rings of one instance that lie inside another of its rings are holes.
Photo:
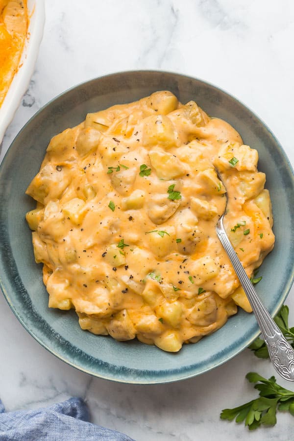
[[[249,302],[217,238],[250,277],[274,244],[258,152],[228,123],[167,91],[54,136],[26,193],[49,307],[82,329],[176,352]],[[259,279],[257,279],[258,281]],[[255,280],[256,282],[256,280]]]

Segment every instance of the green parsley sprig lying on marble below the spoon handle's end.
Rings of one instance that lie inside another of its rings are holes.
[[[244,421],[249,430],[254,430],[262,424],[274,426],[277,410],[288,411],[294,416],[294,392],[279,386],[275,377],[267,380],[256,372],[249,372],[246,378],[250,383],[256,383],[254,389],[259,391],[259,398],[233,409],[223,409],[221,419]]]

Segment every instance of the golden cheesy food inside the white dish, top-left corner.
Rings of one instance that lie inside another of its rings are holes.
[[[19,68],[27,25],[26,0],[0,0],[0,105]]]

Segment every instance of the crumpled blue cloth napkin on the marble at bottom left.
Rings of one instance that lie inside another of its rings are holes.
[[[0,441],[134,441],[88,420],[88,408],[81,398],[7,413],[0,400]]]

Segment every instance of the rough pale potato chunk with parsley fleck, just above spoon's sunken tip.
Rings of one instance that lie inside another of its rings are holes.
[[[256,172],[258,151],[249,146],[240,146],[239,143],[221,147],[215,163],[219,170],[229,170],[234,167],[239,172]]]

